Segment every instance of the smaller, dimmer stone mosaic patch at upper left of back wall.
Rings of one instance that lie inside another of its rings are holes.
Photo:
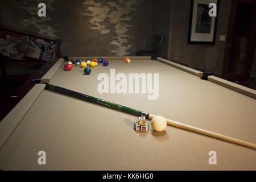
[[[30,18],[22,19],[21,24],[24,27],[34,26],[38,30],[39,35],[46,35],[53,38],[56,38],[56,33],[59,32],[54,27],[51,26],[53,24],[52,18],[48,15],[51,12],[55,11],[53,7],[53,3],[55,0],[44,0],[43,2],[46,4],[46,17],[38,16],[38,4],[42,2],[42,0],[26,0],[23,1],[23,6],[20,6],[19,9],[26,10]]]

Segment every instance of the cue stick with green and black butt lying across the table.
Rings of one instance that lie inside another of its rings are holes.
[[[48,90],[52,90],[54,92],[59,92],[59,93],[62,93],[62,94],[68,95],[68,96],[80,98],[81,100],[93,102],[95,104],[99,104],[99,105],[103,105],[103,106],[110,107],[110,108],[113,108],[113,109],[117,109],[119,111],[134,114],[134,115],[137,115],[137,116],[144,116],[147,119],[152,119],[152,118],[155,117],[154,114],[146,113],[144,111],[133,109],[131,107],[118,105],[118,104],[115,104],[114,102],[101,100],[100,98],[88,96],[86,94],[82,94],[82,93],[79,93],[79,92],[75,92],[73,90],[65,89],[65,88],[62,88],[60,86],[55,86],[55,85],[52,85],[52,84],[48,84],[48,81],[49,80],[47,80],[46,82],[44,82],[44,80],[40,81],[40,83],[46,84],[46,89],[48,89]],[[225,135],[214,133],[212,131],[208,131],[208,130],[200,129],[198,127],[186,125],[184,123],[173,121],[171,119],[166,118],[166,121],[167,121],[168,125],[175,126],[175,127],[180,128],[180,129],[192,131],[192,132],[199,133],[199,134],[202,134],[202,135],[207,135],[209,137],[225,140],[226,142],[235,143],[235,144],[239,144],[241,146],[256,149],[256,144],[254,144],[254,143],[245,142],[245,141],[240,140],[240,139],[228,137],[228,136],[225,136]]]

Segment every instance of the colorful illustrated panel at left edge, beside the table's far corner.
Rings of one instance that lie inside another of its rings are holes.
[[[9,59],[55,59],[57,43],[54,40],[31,36],[0,28],[0,55]]]

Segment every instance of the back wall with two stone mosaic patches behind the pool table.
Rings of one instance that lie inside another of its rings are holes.
[[[151,36],[152,0],[0,1],[0,25],[63,40],[63,56],[134,55]]]

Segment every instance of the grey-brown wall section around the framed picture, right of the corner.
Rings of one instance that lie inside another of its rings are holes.
[[[168,58],[221,75],[225,42],[219,37],[227,34],[230,5],[231,0],[220,0],[214,45],[187,44],[191,1],[172,0]]]

